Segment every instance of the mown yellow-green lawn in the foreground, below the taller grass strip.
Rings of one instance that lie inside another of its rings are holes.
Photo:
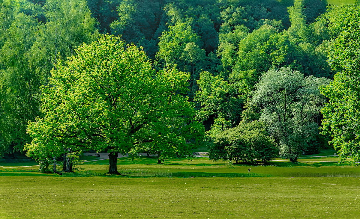
[[[0,218],[355,218],[359,178],[0,177]]]

